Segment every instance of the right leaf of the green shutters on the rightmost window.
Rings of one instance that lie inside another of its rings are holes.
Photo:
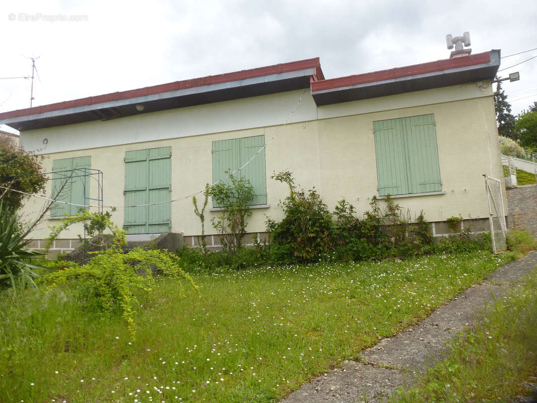
[[[434,116],[412,116],[407,119],[409,155],[409,193],[442,190]]]

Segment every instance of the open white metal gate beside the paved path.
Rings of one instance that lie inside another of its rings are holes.
[[[487,186],[487,196],[489,199],[489,220],[490,220],[490,235],[492,238],[492,250],[494,253],[499,253],[507,250],[505,242],[505,234],[507,226],[505,224],[505,214],[502,197],[502,182],[498,179],[485,177],[485,186]]]

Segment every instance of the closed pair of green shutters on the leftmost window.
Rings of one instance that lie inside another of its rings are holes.
[[[84,168],[91,167],[91,157],[75,157],[54,160],[52,162],[52,195],[51,197],[61,202],[86,205],[89,201],[90,181],[89,172]],[[53,203],[50,206],[50,215],[60,217],[62,215],[76,214],[81,206],[63,203]]]

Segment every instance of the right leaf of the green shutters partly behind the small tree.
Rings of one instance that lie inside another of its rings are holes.
[[[257,154],[265,146],[265,136],[253,136],[240,139],[241,145],[241,164],[246,162]],[[267,184],[265,173],[265,149],[255,156],[243,169],[241,176],[248,178],[253,186],[255,198],[250,205],[267,204]]]

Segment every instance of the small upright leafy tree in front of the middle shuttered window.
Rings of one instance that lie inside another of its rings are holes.
[[[208,194],[222,207],[217,217],[211,222],[214,229],[222,235],[222,246],[235,253],[246,233],[246,219],[252,212],[248,204],[256,196],[249,179],[229,175],[229,182],[220,182],[211,186]]]

